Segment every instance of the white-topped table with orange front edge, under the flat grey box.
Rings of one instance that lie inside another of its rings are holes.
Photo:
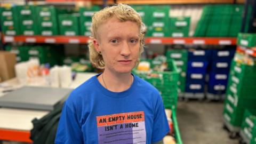
[[[95,73],[77,73],[75,80],[69,87],[75,89],[94,75]],[[36,83],[26,85],[45,86],[45,83],[40,81],[39,78]],[[17,78],[0,83],[0,97],[4,95],[3,91],[13,88],[18,89],[21,86],[24,86],[24,84],[20,84]],[[32,143],[29,139],[30,130],[33,128],[31,121],[48,113],[49,111],[42,110],[0,108],[0,140]]]

